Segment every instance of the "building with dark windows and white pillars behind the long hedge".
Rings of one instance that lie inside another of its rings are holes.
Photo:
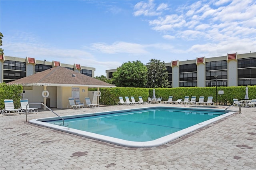
[[[227,54],[220,57],[197,57],[165,63],[171,87],[212,87],[256,85],[256,53]],[[112,78],[116,69],[106,70]]]

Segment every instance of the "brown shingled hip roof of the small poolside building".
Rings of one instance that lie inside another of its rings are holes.
[[[49,86],[50,84],[50,86],[116,87],[115,85],[100,81],[82,73],[77,73],[61,66],[53,67],[10,83],[21,84],[22,86],[36,86],[44,84],[48,84]]]

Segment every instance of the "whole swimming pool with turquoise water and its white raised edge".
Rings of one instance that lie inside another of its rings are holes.
[[[30,123],[126,147],[153,147],[168,143],[233,112],[219,109],[148,107],[62,117]]]

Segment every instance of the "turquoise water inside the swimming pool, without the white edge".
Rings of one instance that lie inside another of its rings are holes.
[[[65,119],[65,127],[128,141],[146,142],[222,114],[219,111],[156,108]],[[47,123],[62,125],[60,120]]]

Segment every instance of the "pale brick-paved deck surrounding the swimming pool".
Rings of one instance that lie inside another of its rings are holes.
[[[184,107],[148,104],[55,109],[54,112],[64,116],[156,105]],[[238,107],[229,110],[238,111]],[[54,116],[50,111],[41,110],[38,114],[29,114],[28,121]],[[242,107],[242,114],[235,113],[153,148],[126,148],[39,127],[26,122],[26,115],[0,117],[0,136],[1,170],[256,169],[256,108]]]

